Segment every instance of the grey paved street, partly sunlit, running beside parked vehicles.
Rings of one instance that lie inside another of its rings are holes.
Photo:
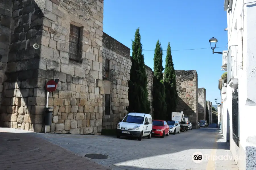
[[[219,133],[217,128],[200,128],[163,139],[152,137],[142,141],[97,135],[38,133],[38,136],[81,156],[88,153],[108,155],[106,160],[93,161],[113,170],[238,170],[233,160],[204,159],[201,163],[193,162],[192,155],[195,152],[213,157],[231,156]]]

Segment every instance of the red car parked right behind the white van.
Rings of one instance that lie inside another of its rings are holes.
[[[152,120],[152,135],[153,136],[169,136],[169,125],[164,120]]]

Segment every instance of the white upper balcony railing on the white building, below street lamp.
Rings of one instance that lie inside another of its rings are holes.
[[[230,46],[227,54],[228,59],[228,83],[235,78],[238,78],[237,67],[237,46]]]

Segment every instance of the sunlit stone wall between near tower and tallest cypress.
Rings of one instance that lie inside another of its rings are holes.
[[[119,119],[123,119],[127,114],[126,107],[128,101],[128,80],[130,79],[131,59],[130,48],[121,44],[109,35],[103,32],[103,64],[102,75],[105,75],[105,61],[109,60],[110,73],[112,78],[104,79],[104,92],[110,94],[110,115],[106,115],[104,107],[103,129],[115,129]],[[105,106],[105,95],[103,96],[103,105]]]

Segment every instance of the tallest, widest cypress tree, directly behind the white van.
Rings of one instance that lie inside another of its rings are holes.
[[[130,80],[128,81],[129,106],[126,109],[129,113],[149,113],[150,102],[148,100],[147,91],[148,81],[144,64],[144,55],[142,54],[139,28],[135,32],[132,50]]]

